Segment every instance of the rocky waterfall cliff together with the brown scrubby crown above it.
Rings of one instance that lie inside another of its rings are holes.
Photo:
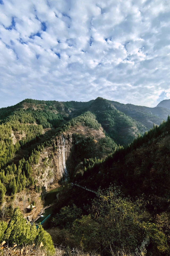
[[[75,134],[79,134],[80,137],[75,136]],[[94,138],[94,145],[89,145],[91,153],[87,150],[88,153],[83,155],[83,152],[78,150],[78,145],[79,143],[81,144],[83,139],[81,136]],[[41,152],[39,163],[33,166],[36,185],[45,186],[48,189],[50,184],[68,178],[84,157],[98,156],[99,158],[105,158],[110,151],[107,154],[105,152],[102,153],[99,151],[100,145],[98,144],[98,141],[104,137],[103,128],[95,130],[87,126],[72,127],[70,131],[56,137],[55,146],[45,147]]]

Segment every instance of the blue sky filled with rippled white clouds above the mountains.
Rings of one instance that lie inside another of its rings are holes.
[[[170,0],[0,0],[0,107],[170,98]]]

